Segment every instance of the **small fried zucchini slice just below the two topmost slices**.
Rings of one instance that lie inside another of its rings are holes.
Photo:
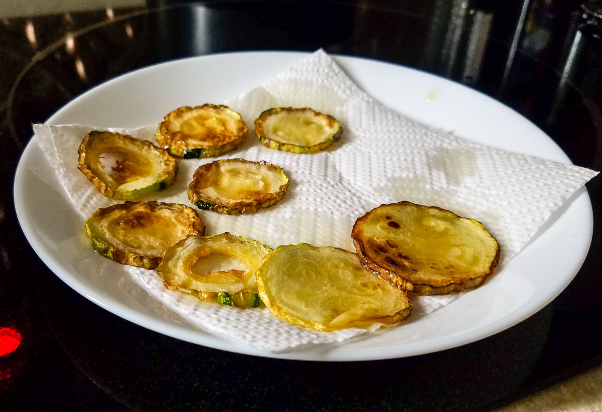
[[[282,167],[265,161],[216,160],[196,169],[188,199],[199,209],[240,214],[275,204],[287,189]]]

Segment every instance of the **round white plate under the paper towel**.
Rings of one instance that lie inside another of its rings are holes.
[[[246,92],[303,57],[297,52],[243,52],[146,67],[84,93],[47,123],[123,128],[156,123],[174,107],[225,101]],[[570,163],[535,125],[479,92],[394,64],[354,57],[335,56],[335,60],[362,89],[401,113],[476,142]],[[368,339],[270,354],[199,331],[128,279],[108,279],[86,264],[93,252],[81,248],[85,234],[74,223],[79,217],[36,139],[17,167],[14,201],[23,232],[44,263],[81,295],[117,316],[224,351],[318,361],[425,354],[503,331],[544,307],[568,285],[585,259],[593,227],[591,202],[581,189],[496,276],[440,310]]]

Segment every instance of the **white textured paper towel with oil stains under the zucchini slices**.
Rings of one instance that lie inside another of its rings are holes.
[[[381,204],[407,200],[480,220],[500,243],[505,263],[569,196],[597,175],[583,167],[473,143],[409,119],[362,92],[321,50],[250,92],[211,103],[241,113],[250,130],[263,110],[286,106],[332,114],[343,126],[341,142],[317,154],[265,148],[250,131],[241,148],[219,157],[268,161],[283,167],[290,177],[284,199],[258,213],[227,216],[199,211],[207,235],[228,231],[272,248],[306,242],[354,251],[350,233],[358,217]],[[111,130],[152,141],[156,127]],[[101,195],[77,169],[79,143],[94,129],[34,126],[37,141],[81,216],[82,230],[96,209],[118,203]],[[147,199],[191,205],[187,187],[194,170],[213,160],[178,160],[176,184]],[[200,329],[264,351],[342,342],[365,332],[312,331],[281,321],[265,308],[238,310],[167,290],[152,270],[117,263],[115,270],[132,276],[149,295]],[[418,296],[412,300],[412,316],[427,316],[458,296]]]

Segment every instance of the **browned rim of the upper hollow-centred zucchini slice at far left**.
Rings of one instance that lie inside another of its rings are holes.
[[[91,169],[90,163],[92,161],[98,161],[98,158],[91,159],[88,156],[88,151],[94,145],[96,140],[102,140],[106,137],[111,136],[123,142],[130,142],[132,145],[138,145],[149,151],[155,151],[163,156],[161,163],[163,164],[164,170],[171,170],[172,173],[163,181],[156,182],[154,185],[147,188],[143,188],[140,191],[131,191],[128,193],[122,193],[119,190],[113,190],[107,182],[105,182],[100,176],[97,176]],[[163,190],[165,187],[170,186],[175,181],[176,175],[178,174],[178,163],[171,157],[167,151],[155,146],[152,142],[143,139],[136,139],[135,137],[129,136],[129,134],[119,134],[109,131],[98,131],[94,130],[84,137],[78,149],[78,169],[84,173],[84,176],[92,182],[96,189],[98,189],[103,195],[113,199],[121,200],[134,200],[139,196],[146,195],[149,192],[155,192],[157,190]]]

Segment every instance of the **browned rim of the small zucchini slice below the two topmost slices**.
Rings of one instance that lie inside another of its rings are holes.
[[[269,170],[270,172],[278,173],[285,177],[285,184],[282,184],[277,192],[273,193],[251,193],[249,194],[249,200],[226,203],[221,202],[221,199],[208,199],[203,195],[202,190],[205,187],[205,183],[211,181],[210,176],[214,173],[219,173],[219,169],[222,163],[237,161],[240,163],[255,163],[261,164],[262,167]],[[265,161],[250,161],[245,159],[223,159],[216,160],[208,164],[203,164],[194,172],[190,186],[188,186],[188,199],[193,202],[194,205],[199,205],[199,201],[205,206],[203,209],[216,211],[222,214],[242,214],[252,213],[258,211],[261,208],[270,207],[278,202],[287,193],[288,189],[288,177],[284,174],[284,170],[280,166],[276,166],[272,163]]]

